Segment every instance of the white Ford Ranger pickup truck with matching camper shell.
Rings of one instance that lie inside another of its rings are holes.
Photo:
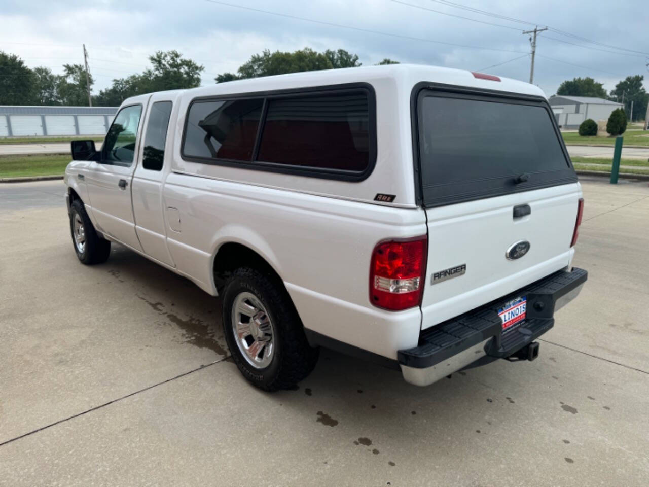
[[[319,346],[431,384],[535,338],[587,279],[580,184],[545,95],[459,69],[373,66],[127,99],[71,144],[84,264],[111,242],[223,299],[265,390]]]

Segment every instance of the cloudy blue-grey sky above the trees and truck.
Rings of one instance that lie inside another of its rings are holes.
[[[628,75],[649,78],[647,9],[640,0],[3,0],[0,50],[60,73],[82,62],[86,43],[95,92],[167,49],[202,64],[203,84],[263,49],[306,46],[347,49],[363,64],[389,57],[528,81],[521,32],[538,23],[551,30],[538,39],[534,82],[552,95],[578,76],[607,90]]]

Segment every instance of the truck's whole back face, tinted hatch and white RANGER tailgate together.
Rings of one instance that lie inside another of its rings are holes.
[[[582,193],[543,97],[424,89],[417,128],[422,328],[569,266]]]

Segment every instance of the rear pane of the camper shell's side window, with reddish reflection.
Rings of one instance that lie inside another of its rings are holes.
[[[268,104],[258,160],[355,172],[369,165],[365,92],[278,98]]]

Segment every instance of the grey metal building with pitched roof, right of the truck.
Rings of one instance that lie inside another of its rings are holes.
[[[562,129],[578,129],[589,118],[607,120],[615,108],[624,107],[622,103],[587,96],[554,95],[548,101]]]

